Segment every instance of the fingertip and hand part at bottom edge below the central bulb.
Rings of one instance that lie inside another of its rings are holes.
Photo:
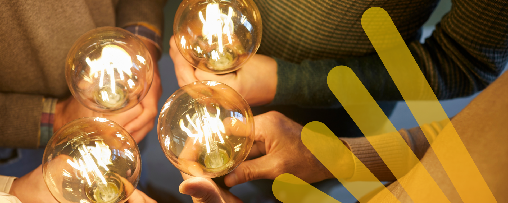
[[[192,196],[195,203],[242,203],[230,191],[221,188],[212,179],[189,176],[181,173],[183,182],[178,190]]]

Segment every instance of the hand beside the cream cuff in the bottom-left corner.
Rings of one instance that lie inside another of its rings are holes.
[[[42,176],[42,165],[34,171],[16,179],[11,186],[9,194],[12,194],[23,203],[58,203],[49,192],[44,177]]]

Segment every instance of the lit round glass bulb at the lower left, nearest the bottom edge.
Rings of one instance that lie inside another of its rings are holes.
[[[105,118],[86,117],[62,126],[44,151],[43,176],[60,203],[125,202],[141,175],[131,134]]]

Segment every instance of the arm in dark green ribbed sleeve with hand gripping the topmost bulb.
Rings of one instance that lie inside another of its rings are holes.
[[[454,0],[453,5],[425,44],[418,40],[407,43],[438,99],[468,96],[484,89],[499,76],[508,58],[505,2]],[[233,87],[251,106],[340,107],[327,84],[328,73],[338,65],[350,67],[374,99],[402,99],[376,53],[299,64],[256,54],[236,72],[215,75],[194,69],[176,49],[174,40],[170,43],[180,86],[198,80],[219,81]]]

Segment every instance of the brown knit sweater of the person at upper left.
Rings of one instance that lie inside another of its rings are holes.
[[[42,98],[70,95],[63,73],[65,58],[83,33],[133,20],[162,30],[164,4],[142,0],[0,1],[0,146],[39,147]]]

